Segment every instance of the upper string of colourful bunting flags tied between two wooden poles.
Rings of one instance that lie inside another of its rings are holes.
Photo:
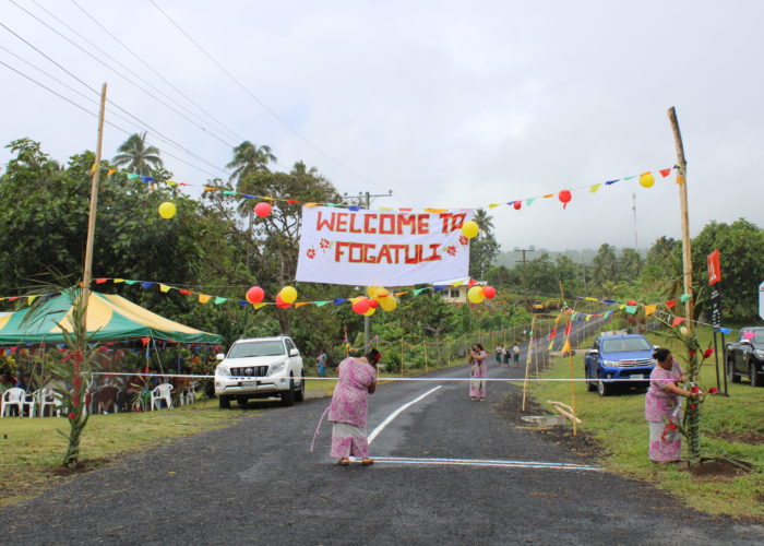
[[[93,166],[94,169],[97,168],[96,165]],[[261,200],[260,203],[255,206],[255,214],[259,216],[267,216],[271,213],[271,205],[274,203],[284,203],[284,204],[297,204],[297,205],[302,205],[302,206],[334,206],[334,207],[342,207],[342,209],[347,209],[348,211],[360,211],[361,209],[367,209],[366,206],[362,206],[360,204],[358,205],[353,205],[353,204],[347,204],[347,203],[330,203],[330,202],[310,202],[310,201],[300,201],[298,199],[289,199],[289,198],[275,198],[272,195],[254,195],[251,193],[242,193],[234,190],[229,190],[226,187],[218,187],[218,186],[212,186],[212,185],[198,185],[198,183],[188,183],[188,182],[180,182],[176,180],[160,180],[152,176],[143,176],[139,175],[135,173],[130,173],[128,170],[123,169],[116,169],[112,167],[107,167],[107,166],[102,166],[100,167],[103,170],[106,170],[107,177],[111,177],[112,175],[119,173],[122,174],[127,177],[128,180],[140,180],[144,183],[147,185],[156,185],[156,183],[166,183],[169,187],[194,187],[194,188],[201,188],[203,192],[218,192],[223,195],[227,197],[236,197],[236,198],[241,198],[241,199],[253,199],[253,200]],[[493,202],[493,203],[486,203],[485,205],[480,205],[481,207],[488,207],[488,209],[497,209],[499,206],[511,206],[512,209],[520,211],[523,207],[523,204],[526,206],[530,206],[538,200],[545,200],[545,199],[551,199],[557,197],[558,200],[562,203],[562,207],[565,209],[568,206],[568,203],[570,203],[573,199],[573,192],[577,191],[587,191],[588,193],[597,193],[601,188],[607,188],[610,187],[617,182],[626,182],[631,180],[637,180],[640,186],[643,188],[652,188],[655,182],[656,178],[668,178],[669,175],[677,170],[677,166],[668,167],[668,168],[661,168],[661,169],[656,169],[656,170],[647,170],[644,171],[640,175],[630,175],[630,176],[624,176],[621,178],[613,178],[610,180],[605,180],[604,182],[598,182],[598,183],[589,183],[585,186],[578,186],[578,187],[573,187],[569,189],[562,189],[556,192],[550,192],[550,193],[542,193],[539,195],[534,195],[529,198],[524,198],[524,199],[516,199],[512,201],[504,201],[504,202]],[[677,174],[677,183],[684,183],[684,179]],[[160,214],[165,218],[170,218],[175,215],[175,206],[172,203],[163,203],[165,205],[165,213],[160,211]],[[170,214],[170,207],[168,205],[172,205],[171,207],[171,214]],[[432,212],[432,213],[439,213],[446,211],[446,209],[441,209],[441,207],[392,207],[392,206],[381,206],[379,207],[380,211],[401,211],[401,212],[409,212],[414,210],[423,210],[425,212]]]

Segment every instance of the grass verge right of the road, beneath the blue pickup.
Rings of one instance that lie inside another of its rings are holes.
[[[656,345],[669,346],[662,336],[648,335]],[[703,347],[712,334],[699,331]],[[705,343],[704,343],[705,342]],[[681,354],[676,355],[681,361]],[[568,358],[556,358],[545,378],[571,377]],[[573,357],[575,378],[584,378],[583,354]],[[716,384],[713,357],[704,365],[701,382],[705,389]],[[570,383],[532,383],[532,395],[545,407],[547,400],[571,404]],[[682,498],[688,506],[712,514],[727,514],[764,521],[764,389],[749,383],[730,383],[729,397],[711,396],[703,407],[701,428],[704,456],[742,459],[754,465],[753,472],[736,477],[695,477],[673,467],[657,466],[647,458],[648,430],[644,418],[644,392],[625,391],[600,397],[575,383],[576,414],[581,428],[592,432],[607,450],[602,464],[610,471],[648,482]]]

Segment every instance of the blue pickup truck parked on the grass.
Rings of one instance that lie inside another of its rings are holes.
[[[594,346],[586,352],[584,370],[589,391],[598,391],[600,396],[612,394],[617,385],[646,388],[649,375],[655,368],[655,347],[638,334],[600,335]],[[645,382],[616,382],[608,379],[644,379]]]

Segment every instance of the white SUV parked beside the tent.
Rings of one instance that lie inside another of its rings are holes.
[[[280,396],[287,406],[305,400],[302,357],[289,336],[239,340],[217,359],[215,395],[222,408],[230,407],[231,399],[244,405],[249,399]]]

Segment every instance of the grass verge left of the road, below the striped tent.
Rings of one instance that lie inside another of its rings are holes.
[[[81,460],[93,468],[175,438],[223,428],[241,415],[219,411],[214,400],[169,412],[92,415],[82,437]],[[0,419],[0,507],[36,497],[64,479],[59,471],[67,440],[58,430],[68,432],[65,418]]]

